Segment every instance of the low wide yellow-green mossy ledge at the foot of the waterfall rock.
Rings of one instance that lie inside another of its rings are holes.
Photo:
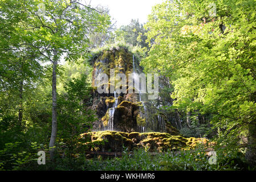
[[[128,150],[147,148],[148,151],[190,150],[197,144],[208,144],[205,138],[184,138],[168,133],[125,133],[119,131],[97,131],[80,135],[80,146],[85,150],[102,152],[121,152],[123,147]]]

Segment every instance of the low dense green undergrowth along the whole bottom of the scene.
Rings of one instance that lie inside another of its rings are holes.
[[[232,150],[217,150],[216,163],[212,156],[206,155],[204,148],[198,146],[194,150],[148,152],[147,149],[135,150],[132,153],[124,148],[121,157],[57,155],[51,162],[46,154],[46,164],[38,165],[36,150],[40,147],[32,143],[28,152],[17,152],[19,143],[8,144],[0,151],[0,158],[9,159],[1,163],[1,170],[68,170],[68,171],[239,171],[254,170],[250,168],[241,152]],[[12,148],[12,149],[11,149]]]

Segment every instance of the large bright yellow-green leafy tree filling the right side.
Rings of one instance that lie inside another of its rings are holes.
[[[172,81],[173,106],[210,115],[222,144],[238,146],[240,138],[247,138],[252,151],[255,7],[255,1],[243,0],[165,1],[145,25],[148,42],[154,41],[141,62],[146,71],[157,68]]]

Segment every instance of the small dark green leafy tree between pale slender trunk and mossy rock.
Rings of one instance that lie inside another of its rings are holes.
[[[68,154],[73,154],[79,134],[87,132],[95,121],[90,104],[91,86],[87,75],[64,83],[65,92],[58,98],[59,142],[65,143]]]

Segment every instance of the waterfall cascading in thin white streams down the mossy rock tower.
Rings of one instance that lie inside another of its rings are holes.
[[[170,122],[167,122],[169,120],[166,119],[170,118],[175,122],[176,118],[174,118],[172,114],[165,116],[164,110],[161,110],[160,97],[159,100],[148,99],[148,94],[145,93],[147,88],[142,88],[144,85],[147,86],[147,82],[141,82],[144,81],[144,75],[140,75],[140,73],[143,73],[143,69],[139,66],[139,62],[136,61],[139,61],[136,59],[136,55],[132,55],[131,52],[125,49],[104,51],[92,60],[92,63],[94,63],[92,77],[94,87],[96,87],[100,81],[100,84],[103,83],[102,79],[97,79],[100,73],[108,73],[109,69],[110,71],[114,69],[115,75],[117,73],[124,73],[125,76],[127,76],[129,75],[128,73],[132,72],[133,88],[137,90],[137,94],[134,94],[134,92],[133,94],[117,94],[116,92],[95,94],[94,97],[97,97],[97,99],[93,101],[92,108],[95,108],[98,119],[94,122],[94,129],[118,130],[124,132],[137,131],[141,133],[149,131],[170,132]],[[112,81],[111,79],[113,79],[113,77],[110,78],[110,82]],[[117,80],[115,80],[115,84],[116,81]],[[137,81],[139,81],[139,83]],[[145,81],[147,81],[147,77]],[[111,83],[113,84],[114,81]],[[126,84],[125,86],[129,88],[131,85]],[[137,86],[139,87],[137,88]],[[117,107],[121,102],[123,102],[123,107]],[[157,109],[158,105],[159,107]],[[126,113],[128,113],[127,117],[124,116]]]

